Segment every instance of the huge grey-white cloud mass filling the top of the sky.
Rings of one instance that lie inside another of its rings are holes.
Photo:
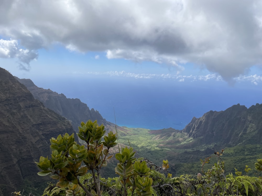
[[[177,74],[191,62],[230,81],[262,65],[261,9],[259,0],[9,0],[1,2],[0,35],[29,51],[60,43]]]

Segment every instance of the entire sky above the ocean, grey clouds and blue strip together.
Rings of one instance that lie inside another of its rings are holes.
[[[260,92],[261,10],[259,0],[1,0],[0,66],[51,90],[55,78],[111,77]]]

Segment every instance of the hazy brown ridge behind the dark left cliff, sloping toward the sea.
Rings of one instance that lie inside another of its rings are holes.
[[[89,119],[97,120],[98,124],[104,124],[106,130],[113,130],[114,124],[103,119],[101,114],[82,103],[79,99],[68,99],[64,94],[58,94],[50,89],[37,87],[30,79],[19,79],[18,81],[24,84],[33,94],[35,99],[41,101],[45,107],[69,119],[74,130],[78,131],[78,126],[81,122],[86,122]]]

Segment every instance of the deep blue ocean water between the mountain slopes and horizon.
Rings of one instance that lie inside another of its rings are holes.
[[[238,103],[250,107],[262,102],[261,87],[251,83],[231,87],[225,82],[186,83],[115,77],[49,83],[38,81],[36,85],[68,98],[78,98],[113,123],[115,111],[118,125],[133,128],[181,130],[193,117],[199,118],[210,110],[221,111]]]

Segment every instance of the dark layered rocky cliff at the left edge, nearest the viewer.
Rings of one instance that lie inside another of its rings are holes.
[[[0,68],[0,190],[3,195],[46,179],[34,162],[50,155],[50,138],[74,132],[69,120],[46,108],[8,71]],[[49,179],[50,180],[50,179]],[[42,188],[41,188],[42,189]],[[41,190],[42,191],[42,190]],[[26,194],[26,192],[24,193]]]

